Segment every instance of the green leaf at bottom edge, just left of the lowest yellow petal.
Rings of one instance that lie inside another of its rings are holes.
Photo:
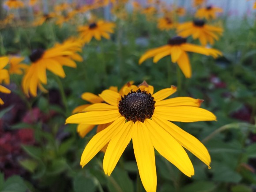
[[[133,183],[127,171],[119,167],[116,167],[111,176],[108,177],[107,186],[111,192],[133,192]]]

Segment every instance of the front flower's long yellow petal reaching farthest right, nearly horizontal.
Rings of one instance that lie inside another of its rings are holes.
[[[191,106],[156,106],[154,109],[156,117],[162,117],[166,120],[180,122],[195,122],[202,120],[216,120],[216,117],[206,109]]]

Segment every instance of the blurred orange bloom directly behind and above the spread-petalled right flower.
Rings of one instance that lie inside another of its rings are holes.
[[[177,27],[178,35],[184,38],[192,35],[192,38],[199,39],[203,46],[207,45],[207,42],[213,45],[214,41],[218,41],[219,35],[222,35],[222,33],[222,28],[207,25],[204,20],[199,19],[196,19],[193,22],[181,23]]]

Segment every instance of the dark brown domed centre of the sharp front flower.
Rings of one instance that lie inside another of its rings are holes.
[[[139,120],[144,122],[150,119],[154,113],[154,98],[147,91],[132,91],[119,101],[119,113],[125,117],[127,121],[132,120],[134,123]]]

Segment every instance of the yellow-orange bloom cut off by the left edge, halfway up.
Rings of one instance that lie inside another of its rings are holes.
[[[10,83],[10,77],[8,71],[4,69],[4,67],[8,64],[9,58],[8,56],[1,56],[0,57],[0,83]],[[6,87],[0,85],[0,92],[9,94],[11,90],[7,89]],[[0,98],[0,105],[4,105],[4,101]]]

